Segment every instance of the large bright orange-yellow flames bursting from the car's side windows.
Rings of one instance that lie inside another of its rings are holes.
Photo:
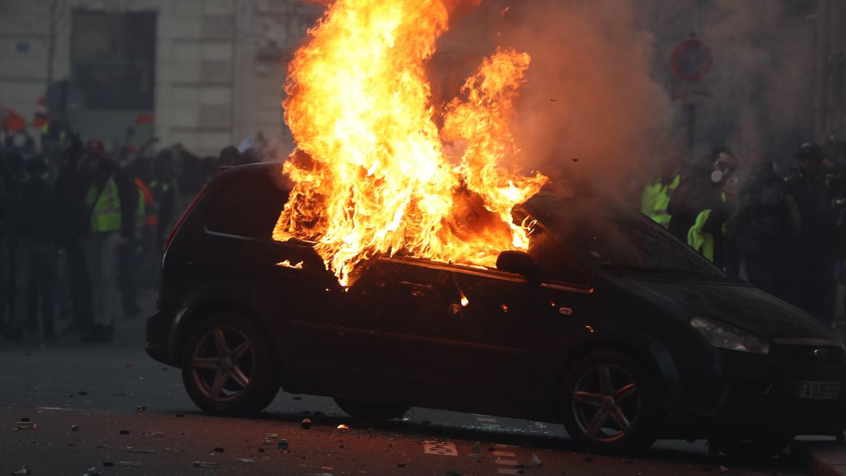
[[[438,130],[425,67],[456,1],[338,0],[289,64],[294,189],[273,238],[313,241],[341,285],[377,254],[493,267],[528,245],[511,210],[547,179],[504,164],[530,57],[497,49]]]

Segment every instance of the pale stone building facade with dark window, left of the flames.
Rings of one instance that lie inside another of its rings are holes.
[[[135,125],[136,143],[200,155],[257,131],[284,140],[285,58],[320,14],[299,0],[3,0],[0,105],[30,119],[46,97],[85,138]]]

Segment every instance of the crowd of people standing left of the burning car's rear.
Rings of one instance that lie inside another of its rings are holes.
[[[67,123],[0,140],[0,335],[25,331],[109,341],[118,320],[157,291],[162,246],[194,196],[223,166],[258,162],[260,147],[200,158],[156,140],[106,147]],[[61,319],[69,324],[57,329]]]

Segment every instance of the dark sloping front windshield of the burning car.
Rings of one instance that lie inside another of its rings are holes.
[[[619,272],[718,275],[704,257],[629,208],[599,200],[540,198],[526,209],[574,252]]]

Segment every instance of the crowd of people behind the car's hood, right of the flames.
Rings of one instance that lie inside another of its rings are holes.
[[[726,274],[831,326],[846,278],[846,147],[807,142],[786,174],[726,147],[667,160],[645,186],[641,212]]]

